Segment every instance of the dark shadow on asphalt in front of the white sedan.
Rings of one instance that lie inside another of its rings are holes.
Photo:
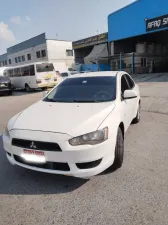
[[[0,137],[0,195],[40,195],[72,192],[87,180],[27,170],[12,166],[5,155]]]

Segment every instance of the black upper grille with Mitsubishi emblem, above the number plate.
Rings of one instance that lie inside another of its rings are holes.
[[[12,145],[19,148],[28,148],[33,150],[43,150],[43,151],[56,151],[61,152],[61,148],[57,143],[43,142],[43,141],[30,141],[23,139],[12,139]]]

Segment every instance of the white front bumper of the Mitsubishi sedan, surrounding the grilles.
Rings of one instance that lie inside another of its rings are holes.
[[[15,133],[15,132],[13,132]],[[29,138],[29,135],[31,133],[31,137],[37,137],[37,140],[39,140],[38,135],[40,136],[40,133],[43,134],[43,132],[32,132],[23,131],[24,135]],[[27,133],[27,135],[26,135]],[[37,135],[38,134],[38,135]],[[16,136],[18,133],[16,132]],[[59,134],[60,135],[60,134]],[[16,137],[15,136],[15,137]],[[41,135],[43,136],[43,135]],[[57,143],[60,145],[62,152],[53,152],[53,151],[44,151],[45,158],[47,162],[52,162],[52,164],[56,163],[67,163],[69,170],[57,170],[57,168],[46,168],[45,165],[39,165],[36,164],[25,164],[22,163],[20,160],[17,160],[18,157],[21,156],[23,153],[23,148],[12,146],[11,144],[11,138],[7,136],[3,136],[3,144],[4,149],[6,151],[7,158],[9,162],[13,165],[18,165],[27,169],[40,171],[40,172],[46,172],[46,173],[52,173],[52,174],[63,174],[67,176],[74,176],[74,177],[91,177],[94,175],[97,175],[104,170],[106,170],[108,167],[110,167],[113,164],[114,161],[114,152],[115,152],[115,140],[113,138],[109,138],[107,141],[94,146],[78,146],[78,147],[72,147],[68,144],[69,137],[59,138],[58,134],[50,134],[45,133],[45,138],[41,137],[41,140],[48,141],[51,140],[52,137],[55,136],[55,140],[57,140]],[[48,139],[48,140],[47,140]],[[63,140],[65,139],[65,140]],[[29,139],[31,140],[31,139]],[[93,168],[79,168],[79,164],[82,165],[82,163],[89,163],[93,161],[99,161],[97,165]]]

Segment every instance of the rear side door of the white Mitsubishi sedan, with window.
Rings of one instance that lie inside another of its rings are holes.
[[[125,78],[126,78],[126,80],[128,82],[129,89],[137,92],[135,83],[132,80],[132,78],[128,74],[125,74]],[[132,111],[132,118],[134,118],[136,116],[136,114],[137,114],[137,109],[138,109],[138,103],[139,103],[138,97],[130,99],[130,103],[132,105],[131,106],[132,107],[132,109],[131,109],[131,111]]]

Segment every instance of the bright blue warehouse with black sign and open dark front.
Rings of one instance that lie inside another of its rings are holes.
[[[167,8],[167,0],[138,0],[108,16],[111,69],[168,72]]]

